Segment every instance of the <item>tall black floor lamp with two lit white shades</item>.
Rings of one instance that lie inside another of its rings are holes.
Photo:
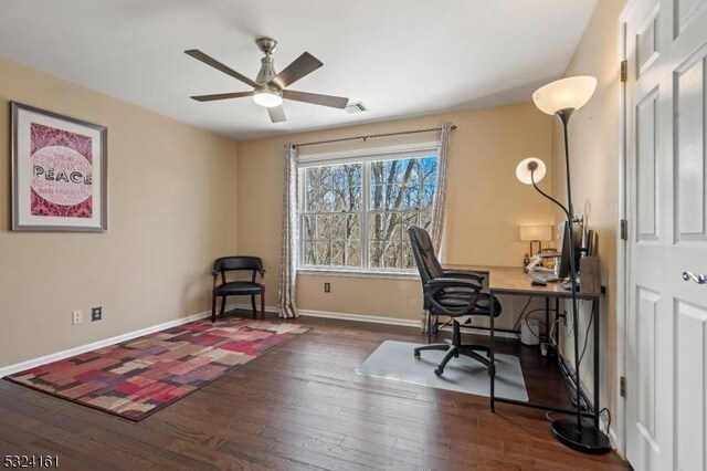
[[[574,333],[574,385],[577,389],[577,420],[555,420],[552,422],[552,435],[562,443],[570,448],[587,453],[605,453],[611,450],[611,443],[604,432],[597,427],[582,422],[582,406],[580,396],[580,374],[579,374],[579,335],[578,318],[579,306],[577,299],[577,266],[574,260],[574,241],[572,237],[572,221],[574,212],[572,210],[572,185],[570,180],[570,150],[567,135],[567,127],[572,113],[581,108],[589,102],[594,88],[597,78],[591,76],[576,76],[562,78],[549,83],[538,88],[532,94],[532,101],[544,113],[556,116],[562,124],[564,137],[564,164],[567,168],[567,207],[557,199],[545,193],[537,184],[542,180],[546,174],[545,163],[539,158],[530,157],[518,164],[516,177],[526,185],[534,188],[544,197],[559,206],[567,217],[567,228],[569,228],[570,249],[570,284],[572,293],[572,329]],[[594,348],[598,346],[595,345]]]

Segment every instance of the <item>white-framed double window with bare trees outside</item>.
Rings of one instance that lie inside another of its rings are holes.
[[[436,148],[303,159],[299,172],[300,268],[414,269],[407,230],[431,226]]]

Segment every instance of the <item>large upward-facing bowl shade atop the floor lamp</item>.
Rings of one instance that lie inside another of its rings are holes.
[[[551,82],[532,94],[535,105],[542,113],[553,115],[562,109],[579,109],[589,102],[597,88],[597,78],[588,75]]]

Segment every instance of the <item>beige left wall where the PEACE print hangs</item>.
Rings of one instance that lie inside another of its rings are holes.
[[[11,100],[107,126],[108,232],[10,231]],[[236,248],[234,142],[3,60],[0,109],[0,367],[209,308]]]

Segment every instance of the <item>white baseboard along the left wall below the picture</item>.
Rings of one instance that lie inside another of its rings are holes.
[[[228,311],[235,308],[236,306],[230,304],[226,306]],[[138,331],[128,332],[127,334],[117,335],[115,337],[105,338],[103,341],[93,342],[91,344],[81,345],[78,347],[68,348],[66,350],[57,352],[51,355],[44,355],[39,358],[29,359],[27,362],[17,363],[14,365],[4,366],[0,368],[0,378],[12,375],[24,369],[34,368],[35,366],[46,365],[48,363],[57,362],[60,359],[68,358],[70,356],[81,355],[82,353],[92,352],[98,348],[107,347],[118,344],[120,342],[130,341],[133,338],[141,337],[154,332],[163,331],[166,328],[176,327],[178,325],[187,324],[188,322],[199,321],[200,318],[209,317],[211,311],[204,311],[198,314],[192,314],[187,317],[176,318],[173,321],[163,322],[161,324],[152,325],[150,327],[140,328]]]

